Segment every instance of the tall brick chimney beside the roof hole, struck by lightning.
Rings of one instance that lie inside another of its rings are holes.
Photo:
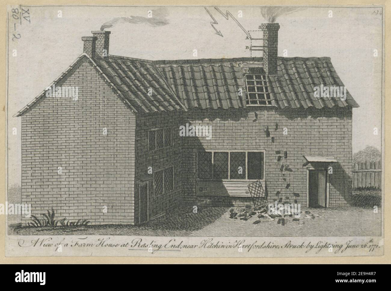
[[[267,75],[277,74],[278,23],[262,23],[259,29],[263,31],[262,62]]]

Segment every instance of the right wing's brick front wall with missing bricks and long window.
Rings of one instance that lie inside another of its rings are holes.
[[[258,119],[255,117],[255,112]],[[192,110],[185,120],[192,125],[212,125],[212,139],[185,137],[183,155],[184,203],[196,205],[208,196],[197,196],[197,152],[203,150],[265,150],[265,183],[269,200],[299,193],[298,202],[307,203],[307,169],[303,155],[333,155],[330,175],[329,206],[349,205],[352,195],[352,109],[274,109],[250,108],[228,110]],[[278,129],[276,129],[276,124]],[[265,135],[269,127],[270,137]],[[286,127],[288,134],[283,134]],[[271,137],[274,137],[274,143]],[[287,151],[287,159],[278,162],[275,151]],[[292,172],[283,180],[281,164],[289,164]],[[285,186],[291,186],[286,189]],[[213,195],[213,191],[210,192]],[[283,201],[286,199],[284,198]]]

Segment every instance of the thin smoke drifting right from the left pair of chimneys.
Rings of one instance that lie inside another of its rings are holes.
[[[132,24],[140,24],[144,23],[150,25],[152,27],[163,26],[169,24],[167,20],[167,16],[169,15],[166,8],[158,8],[151,10],[151,17],[143,17],[143,16],[130,16],[130,17],[115,17],[110,21],[107,21],[102,24],[100,30],[105,30],[106,28],[113,27],[118,23],[132,23]]]

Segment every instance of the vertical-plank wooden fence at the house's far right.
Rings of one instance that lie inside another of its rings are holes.
[[[377,188],[382,186],[382,162],[356,162],[353,163],[353,189]]]

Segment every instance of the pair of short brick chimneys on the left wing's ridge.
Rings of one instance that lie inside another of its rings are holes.
[[[110,32],[104,30],[91,31],[93,36],[83,36],[83,52],[91,58],[103,58],[109,55]]]

